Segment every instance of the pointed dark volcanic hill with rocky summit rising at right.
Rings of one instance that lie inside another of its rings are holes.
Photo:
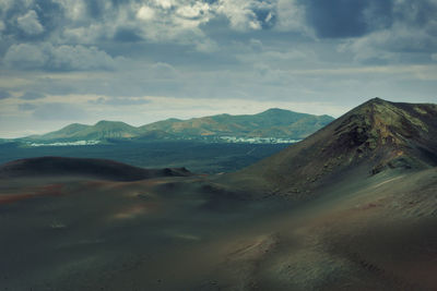
[[[303,193],[344,174],[437,165],[437,106],[371,99],[303,142],[231,180],[255,187]]]

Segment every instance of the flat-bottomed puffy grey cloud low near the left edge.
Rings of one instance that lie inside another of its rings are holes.
[[[116,60],[96,47],[54,46],[51,44],[12,45],[4,56],[11,68],[54,71],[113,70]]]

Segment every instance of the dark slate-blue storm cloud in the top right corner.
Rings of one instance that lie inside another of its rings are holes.
[[[362,37],[395,23],[425,27],[437,15],[432,0],[300,0],[307,23],[321,38]]]

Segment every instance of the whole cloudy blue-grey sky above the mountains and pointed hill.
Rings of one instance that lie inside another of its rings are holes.
[[[0,0],[0,137],[437,102],[437,0]]]

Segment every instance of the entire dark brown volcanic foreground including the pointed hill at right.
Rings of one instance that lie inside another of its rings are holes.
[[[0,169],[0,290],[436,290],[437,106],[381,99],[243,171]]]

